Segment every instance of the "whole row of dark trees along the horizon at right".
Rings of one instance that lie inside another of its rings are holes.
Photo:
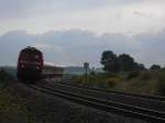
[[[101,55],[101,65],[106,71],[132,71],[146,69],[143,64],[139,64],[129,54],[120,54],[117,56],[112,51],[105,51]],[[161,66],[153,65],[151,69],[160,69]]]

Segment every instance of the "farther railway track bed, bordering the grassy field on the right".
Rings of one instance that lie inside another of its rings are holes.
[[[110,91],[99,88],[91,88],[85,86],[78,86],[66,81],[46,79],[46,83],[52,85],[54,88],[58,88],[66,91],[76,92],[79,94],[91,96],[103,100],[117,101],[120,103],[131,104],[135,107],[143,107],[146,109],[157,110],[165,112],[165,98],[164,97],[148,97],[141,94],[131,94],[125,92]]]

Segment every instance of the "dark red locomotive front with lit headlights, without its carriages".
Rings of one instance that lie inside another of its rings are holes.
[[[43,54],[34,47],[20,52],[18,59],[18,78],[21,80],[37,80],[43,70]]]

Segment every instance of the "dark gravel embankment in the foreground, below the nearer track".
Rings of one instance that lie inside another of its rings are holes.
[[[10,86],[9,91],[28,101],[37,123],[146,123],[45,94],[19,82]]]

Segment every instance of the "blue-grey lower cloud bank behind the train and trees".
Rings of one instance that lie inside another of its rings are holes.
[[[57,65],[100,66],[101,53],[111,49],[116,54],[127,53],[136,62],[165,65],[165,31],[155,35],[103,34],[81,30],[51,31],[40,35],[28,34],[25,31],[9,32],[0,36],[0,65],[16,65],[20,49],[36,46],[44,53],[46,62]]]

